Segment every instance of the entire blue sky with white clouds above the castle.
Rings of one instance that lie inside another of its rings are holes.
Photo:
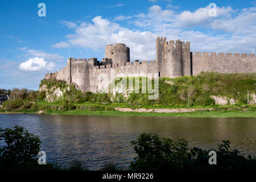
[[[46,4],[46,17],[38,4]],[[209,16],[216,3],[217,16]],[[71,57],[104,57],[125,43],[131,60],[155,60],[155,39],[191,42],[191,51],[251,53],[256,1],[1,1],[0,88],[37,90],[47,72]]]

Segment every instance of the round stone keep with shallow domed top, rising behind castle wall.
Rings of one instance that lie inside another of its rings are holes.
[[[113,64],[130,62],[130,48],[122,43],[106,45],[105,58],[112,59]]]

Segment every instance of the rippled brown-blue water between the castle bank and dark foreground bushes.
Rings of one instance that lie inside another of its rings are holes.
[[[241,154],[256,155],[255,118],[104,117],[0,114],[0,127],[24,126],[39,135],[47,161],[72,159],[99,169],[105,162],[129,166],[135,153],[130,141],[141,133],[184,138],[190,147],[216,148],[222,140]]]

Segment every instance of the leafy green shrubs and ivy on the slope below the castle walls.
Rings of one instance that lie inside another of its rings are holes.
[[[122,107],[187,107],[189,106],[213,106],[215,101],[210,96],[222,96],[233,98],[236,105],[247,104],[247,90],[249,93],[256,93],[256,73],[236,73],[224,74],[217,72],[202,72],[197,76],[183,76],[179,78],[159,78],[159,97],[156,100],[148,100],[148,96],[152,95],[142,92],[142,80],[148,78],[133,77],[120,78],[113,82],[115,86],[125,84],[129,88],[129,80],[139,82],[140,93],[129,93],[128,98],[121,94],[112,93],[92,93],[81,92],[77,90],[75,85],[67,85],[65,81],[42,80],[40,86],[46,85],[46,88],[60,88],[65,90],[63,97],[57,101],[51,102],[51,105],[63,105],[64,110],[72,110],[72,105],[82,104],[100,104]],[[125,83],[126,81],[126,83]],[[152,80],[152,87],[154,87]],[[46,99],[46,91],[32,91],[27,89],[10,90],[11,100],[3,104],[5,110],[36,110],[40,106],[36,106],[37,102]],[[251,99],[251,97],[249,97]],[[68,104],[67,104],[68,103]],[[48,103],[47,103],[48,104]]]

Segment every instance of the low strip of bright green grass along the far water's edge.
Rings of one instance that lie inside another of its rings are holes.
[[[49,109],[41,111],[7,111],[5,114],[54,114],[54,115],[102,115],[102,116],[141,116],[141,117],[198,117],[198,118],[227,118],[227,117],[256,117],[256,111],[238,110],[195,110],[191,112],[137,112],[137,111],[92,111],[88,109],[75,109],[63,111]]]

